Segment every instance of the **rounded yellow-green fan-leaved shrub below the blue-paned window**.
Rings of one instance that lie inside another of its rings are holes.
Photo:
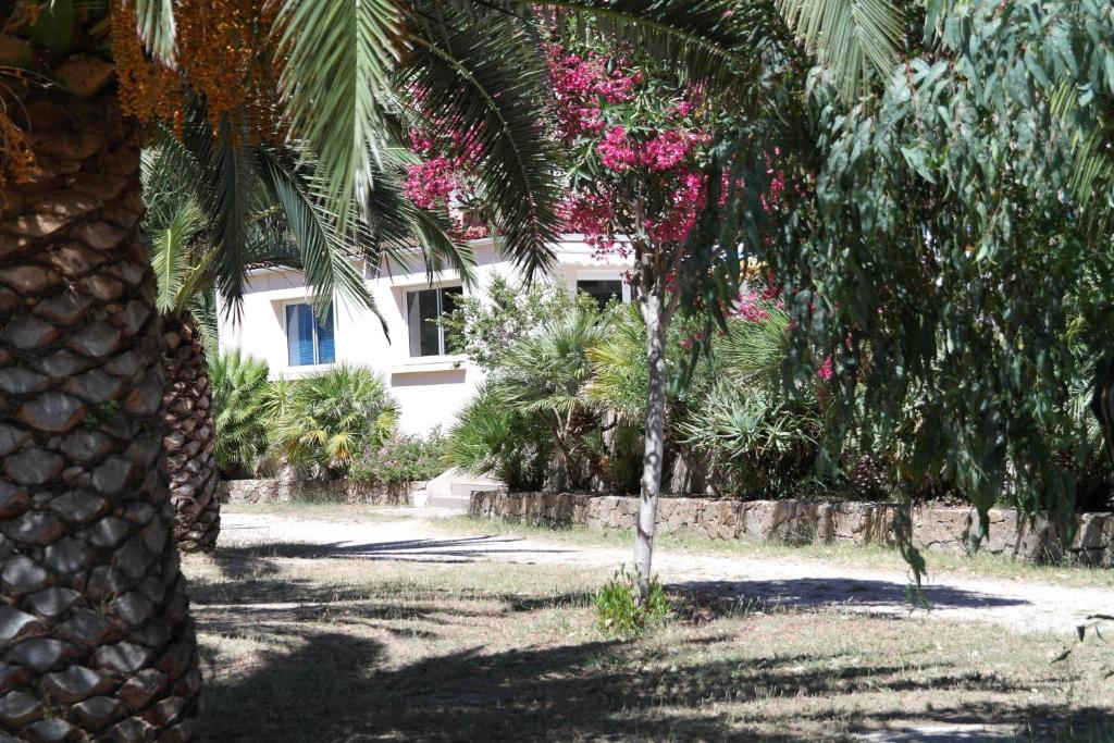
[[[341,364],[275,392],[275,451],[284,463],[319,476],[346,475],[353,458],[382,446],[398,421],[387,383],[362,366]]]

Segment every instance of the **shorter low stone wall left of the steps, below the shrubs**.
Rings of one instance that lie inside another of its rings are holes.
[[[225,504],[289,504],[294,500],[409,506],[422,483],[388,488],[355,480],[225,480],[217,496]]]

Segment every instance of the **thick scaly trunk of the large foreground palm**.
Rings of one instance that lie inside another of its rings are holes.
[[[186,741],[202,677],[137,128],[115,95],[53,90],[9,108],[40,172],[0,187],[0,731]]]

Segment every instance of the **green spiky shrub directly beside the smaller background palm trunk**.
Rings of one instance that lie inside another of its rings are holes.
[[[223,477],[251,477],[267,450],[267,364],[238,350],[208,359],[216,423],[216,465]]]

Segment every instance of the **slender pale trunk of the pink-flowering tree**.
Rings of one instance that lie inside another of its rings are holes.
[[[665,340],[668,314],[663,296],[646,292],[638,299],[638,309],[646,325],[646,365],[649,390],[646,399],[645,449],[642,459],[642,492],[638,500],[638,525],[635,530],[634,565],[638,575],[639,600],[649,598],[651,564],[654,554],[654,527],[657,499],[662,492],[662,458],[665,452]]]

